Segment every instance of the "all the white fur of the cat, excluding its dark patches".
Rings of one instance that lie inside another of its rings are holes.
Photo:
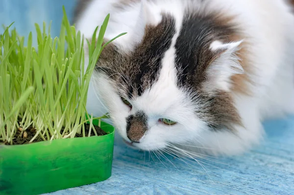
[[[122,32],[128,32],[115,41],[126,50],[131,50],[132,44],[140,41],[145,24],[160,22],[161,11],[169,12],[175,17],[177,30],[172,46],[162,61],[163,68],[158,82],[141,97],[131,101],[132,110],[123,104],[112,84],[102,74],[93,76],[92,84],[96,91],[89,91],[88,111],[101,116],[109,110],[112,121],[125,140],[128,140],[125,118],[140,109],[147,113],[149,129],[141,142],[134,144],[139,148],[152,150],[164,148],[168,143],[189,143],[210,148],[205,150],[210,154],[238,154],[260,142],[263,136],[262,120],[294,113],[294,16],[285,0],[209,0],[207,3],[207,10],[235,15],[236,22],[247,36],[246,41],[250,43],[252,54],[248,54],[248,58],[254,70],[250,76],[255,84],[249,87],[254,93],[250,97],[233,95],[244,123],[244,127],[236,126],[236,134],[207,130],[206,122],[194,114],[196,109],[207,105],[190,102],[185,98],[187,92],[180,91],[175,85],[174,43],[179,34],[184,8],[189,4],[201,10],[203,4],[198,0],[193,3],[192,0],[153,0],[152,3],[135,3],[129,9],[118,12],[112,7],[113,2],[118,0],[93,0],[77,22],[77,29],[86,38],[91,37],[95,27],[102,24],[104,17],[111,13],[105,37],[111,39]],[[239,44],[212,44],[213,50],[228,49],[216,66],[213,66],[214,70],[219,70],[218,64],[226,64],[228,61],[225,59],[234,56],[232,54]],[[228,77],[243,72],[234,57],[230,62],[226,64],[226,69],[221,69],[221,76],[215,81],[227,91],[230,89]],[[94,92],[98,93],[99,100],[95,99]],[[93,109],[92,105],[100,100],[101,103]],[[168,118],[178,123],[166,126],[158,122],[159,118]]]

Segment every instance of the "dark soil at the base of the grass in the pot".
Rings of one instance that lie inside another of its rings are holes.
[[[102,135],[106,135],[107,133],[105,131],[103,131],[100,127],[94,125],[94,128],[96,129],[96,132],[97,132],[97,135],[98,136],[102,136]],[[88,137],[88,134],[89,134],[89,129],[90,129],[90,124],[85,124],[85,134],[86,136]],[[13,145],[22,145],[22,144],[29,144],[29,141],[35,136],[37,130],[30,126],[29,128],[27,128],[25,131],[21,131],[21,129],[19,129],[16,134],[14,135],[14,138],[13,139]],[[61,134],[63,133],[63,129],[61,130],[60,132]],[[91,130],[91,135],[90,136],[95,136],[95,133],[93,130]],[[45,135],[44,136],[45,139],[47,140],[47,136]],[[76,138],[79,138],[79,137],[83,137],[83,134],[75,134],[75,137]],[[38,135],[33,143],[35,142],[42,142],[44,141],[42,139],[42,137],[40,135]],[[0,144],[5,144],[5,145],[9,145],[9,143],[7,141],[5,142],[2,142],[0,141]]]

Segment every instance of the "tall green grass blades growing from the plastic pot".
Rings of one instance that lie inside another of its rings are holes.
[[[44,141],[73,138],[76,133],[87,137],[84,126],[86,122],[90,122],[91,129],[97,135],[92,125],[93,117],[85,114],[86,99],[96,62],[108,44],[102,46],[109,15],[99,31],[97,27],[93,33],[91,38],[94,41],[87,41],[90,60],[84,71],[84,39],[70,25],[64,7],[63,12],[59,37],[50,36],[50,25],[47,29],[44,23],[41,30],[35,24],[37,48],[32,47],[32,33],[29,33],[25,42],[25,38],[19,36],[16,29],[10,30],[11,25],[0,35],[2,142],[13,144],[16,131],[25,131],[31,125],[37,129],[37,133],[30,142],[38,135]],[[104,117],[107,116],[101,118]],[[19,119],[21,122],[18,122]]]

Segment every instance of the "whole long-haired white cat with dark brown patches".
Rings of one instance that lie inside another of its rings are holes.
[[[286,0],[81,0],[78,8],[86,38],[108,13],[105,39],[128,33],[103,50],[92,83],[99,100],[90,89],[89,104],[99,104],[94,114],[109,110],[133,146],[238,154],[259,143],[264,119],[294,113]]]

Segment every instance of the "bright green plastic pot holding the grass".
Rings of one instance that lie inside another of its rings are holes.
[[[108,179],[114,127],[101,122],[101,128],[108,134],[0,146],[0,195],[38,195]]]

